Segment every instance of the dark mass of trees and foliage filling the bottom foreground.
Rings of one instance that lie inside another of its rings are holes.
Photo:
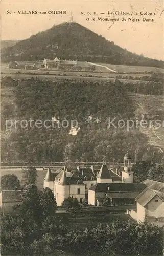
[[[129,220],[77,228],[55,208],[49,188],[39,193],[28,185],[15,215],[1,218],[2,255],[162,255],[163,230],[157,226]]]

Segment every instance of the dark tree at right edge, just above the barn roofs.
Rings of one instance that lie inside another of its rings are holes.
[[[164,182],[164,166],[152,164],[148,170],[148,179]]]

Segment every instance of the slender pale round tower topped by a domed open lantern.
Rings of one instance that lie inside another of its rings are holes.
[[[131,170],[131,156],[128,151],[124,156],[124,170],[122,171],[122,182],[133,183],[133,172]]]

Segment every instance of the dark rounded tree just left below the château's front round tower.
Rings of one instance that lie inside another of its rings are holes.
[[[44,219],[50,215],[55,214],[56,201],[52,190],[48,187],[44,188],[40,192],[40,202],[39,202]]]

